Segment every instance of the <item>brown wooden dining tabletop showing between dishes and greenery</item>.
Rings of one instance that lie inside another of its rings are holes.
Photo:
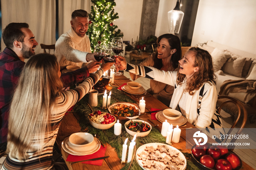
[[[130,80],[127,77],[125,77],[124,75],[115,76],[113,86],[119,87],[129,81]],[[144,100],[146,101],[145,112],[151,111],[151,108],[155,108],[155,109],[168,108],[165,104],[161,103],[155,97],[148,95],[148,93],[146,95],[145,94],[133,95],[133,94],[129,94],[129,93],[124,93],[124,95],[130,96],[132,99],[134,99],[138,103],[139,103],[139,100],[142,97],[144,97]],[[139,119],[147,121],[148,123],[150,123],[152,125],[152,127],[154,127],[154,124],[158,124],[158,126],[156,126],[156,128],[159,130],[159,132],[161,132],[161,128],[162,128],[161,122],[159,122],[158,120],[151,120],[151,121],[153,121],[153,123],[154,123],[153,124],[147,120],[147,119],[151,119],[151,115],[144,114],[144,115],[140,116]],[[61,142],[63,140],[63,138],[61,139],[61,136],[70,135],[72,133],[79,132],[81,130],[81,127],[78,123],[78,120],[79,120],[79,116],[75,112],[71,111],[70,113],[68,113],[67,115],[65,115],[63,117],[63,120],[61,122],[59,132],[58,132],[57,138],[56,138],[56,143],[61,151],[61,154],[63,155],[64,160],[67,159],[68,153],[65,152],[63,150],[63,148],[61,147]],[[180,128],[182,128],[182,127],[180,127]],[[192,125],[191,123],[187,122],[185,124],[184,128],[196,128],[196,127],[194,125]],[[187,141],[187,146],[186,146],[186,141]],[[188,149],[188,148],[191,148],[193,145],[195,145],[195,142],[193,140],[193,134],[187,134],[187,140],[186,140],[186,129],[181,130],[180,142],[172,143],[173,147],[180,149],[183,152],[188,152],[188,153],[191,153],[191,149]],[[111,147],[109,144],[106,144],[106,146],[107,147],[106,147],[105,156],[109,156],[109,158],[104,159],[101,166],[89,165],[89,164],[85,164],[85,163],[76,163],[76,164],[70,165],[71,162],[66,161],[68,168],[70,170],[98,170],[98,169],[120,170],[122,167],[125,166],[125,164],[121,163],[121,159],[118,158],[115,148]],[[136,161],[136,159],[134,159],[133,161]],[[243,161],[242,161],[242,168],[244,168],[245,170],[253,169],[252,167],[250,167],[248,164],[246,164]]]

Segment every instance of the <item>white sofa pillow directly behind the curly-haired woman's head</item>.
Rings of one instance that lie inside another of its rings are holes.
[[[221,67],[226,63],[227,59],[231,57],[231,55],[225,53],[223,50],[220,50],[218,48],[215,48],[212,51],[211,56],[214,72],[218,72]]]

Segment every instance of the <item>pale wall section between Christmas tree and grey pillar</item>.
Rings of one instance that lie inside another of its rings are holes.
[[[118,13],[119,18],[113,23],[123,32],[124,41],[137,40],[140,33],[140,20],[142,14],[143,0],[116,0],[114,12]]]

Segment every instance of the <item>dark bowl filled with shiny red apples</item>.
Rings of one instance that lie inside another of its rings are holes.
[[[201,170],[238,170],[242,167],[241,159],[225,146],[212,146],[206,143],[193,146],[193,162]]]

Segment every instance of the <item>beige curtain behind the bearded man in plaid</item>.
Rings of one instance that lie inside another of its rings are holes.
[[[42,44],[55,44],[55,0],[1,0],[2,29],[11,22],[25,22],[38,42],[35,53],[42,53]],[[1,51],[5,48],[1,39]]]

